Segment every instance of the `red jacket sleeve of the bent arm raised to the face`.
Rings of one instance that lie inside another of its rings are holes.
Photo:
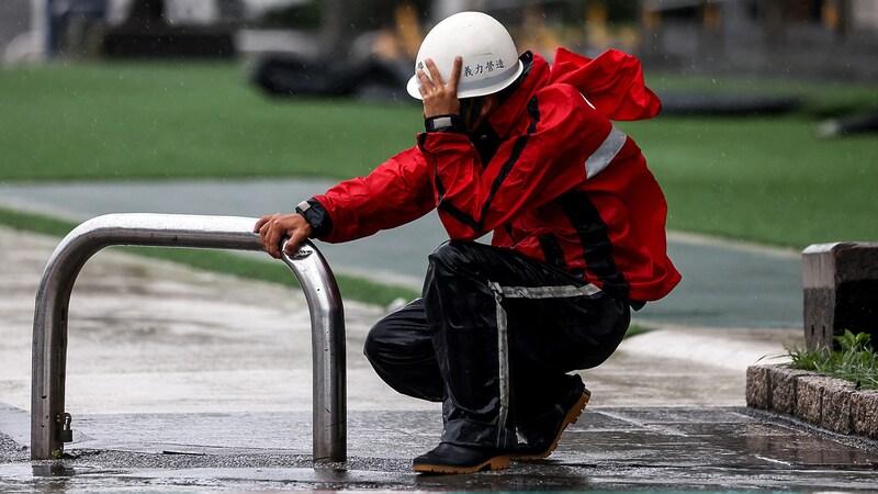
[[[586,159],[614,128],[567,85],[538,92],[527,119],[486,166],[464,135],[418,136],[439,217],[452,239],[479,238],[582,183]]]

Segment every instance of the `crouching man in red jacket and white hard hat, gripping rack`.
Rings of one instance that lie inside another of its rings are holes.
[[[442,403],[440,442],[414,469],[545,458],[590,395],[572,371],[604,362],[630,311],[680,280],[662,190],[612,124],[661,103],[635,58],[519,56],[479,12],[429,32],[407,90],[424,103],[416,146],[255,232],[280,257],[284,237],[288,251],[348,242],[436,210],[449,240],[429,256],[421,296],[375,324],[364,348],[391,388]],[[486,234],[491,245],[475,242]]]

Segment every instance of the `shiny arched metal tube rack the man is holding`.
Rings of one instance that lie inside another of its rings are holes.
[[[86,261],[116,245],[262,250],[256,218],[184,214],[108,214],[89,220],[55,248],[36,293],[31,388],[31,458],[59,458],[69,441],[65,412],[67,318],[74,282]],[[309,242],[283,261],[299,279],[311,312],[314,366],[314,460],[345,461],[347,404],[345,314],[335,277]]]

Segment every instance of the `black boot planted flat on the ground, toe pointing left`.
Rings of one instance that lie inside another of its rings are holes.
[[[416,472],[475,473],[509,468],[509,451],[440,442],[412,462]]]

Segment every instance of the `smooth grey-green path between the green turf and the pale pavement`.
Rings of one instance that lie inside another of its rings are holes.
[[[83,221],[106,213],[190,213],[258,217],[291,211],[331,182],[303,180],[0,184],[0,206]],[[370,238],[319,244],[337,272],[420,289],[426,257],[444,240],[435,215]],[[648,325],[800,328],[801,256],[783,249],[672,234],[683,283],[635,314]],[[364,267],[369,267],[368,270]]]

